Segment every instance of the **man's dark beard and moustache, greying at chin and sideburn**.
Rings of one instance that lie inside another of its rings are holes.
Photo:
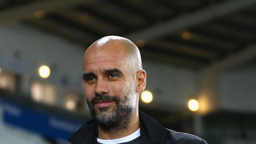
[[[114,101],[116,106],[112,108],[111,112],[107,112],[110,107],[99,108],[97,112],[94,104],[97,101]],[[90,102],[87,101],[87,107],[91,116],[95,119],[98,125],[104,132],[113,130],[124,131],[129,128],[132,114],[136,105],[135,95],[135,81],[132,83],[132,88],[123,93],[123,99],[120,96],[109,96],[106,94],[95,94],[95,97]]]

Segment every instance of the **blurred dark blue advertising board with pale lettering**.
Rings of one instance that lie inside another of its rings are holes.
[[[7,124],[41,134],[52,139],[67,139],[82,123],[33,110],[11,101],[1,100],[3,121]]]

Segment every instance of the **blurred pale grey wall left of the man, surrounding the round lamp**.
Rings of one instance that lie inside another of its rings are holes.
[[[22,89],[30,93],[30,81],[52,83],[57,88],[57,105],[62,105],[65,90],[83,92],[82,59],[85,49],[46,32],[25,25],[11,25],[0,28],[0,67],[22,76]],[[18,57],[15,56],[18,53]],[[40,78],[38,68],[47,65],[51,75]],[[61,80],[68,85],[63,87]]]

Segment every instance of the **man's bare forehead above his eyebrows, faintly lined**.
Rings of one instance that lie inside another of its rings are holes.
[[[120,44],[96,44],[92,45],[84,55],[83,70],[105,70],[126,68],[126,52]]]

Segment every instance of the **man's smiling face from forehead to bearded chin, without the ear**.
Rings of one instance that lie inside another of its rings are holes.
[[[129,125],[136,105],[135,73],[116,43],[98,44],[84,57],[84,91],[90,114],[105,130]]]

